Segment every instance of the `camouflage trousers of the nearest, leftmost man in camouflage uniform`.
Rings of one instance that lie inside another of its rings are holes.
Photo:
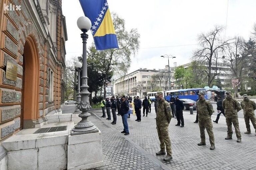
[[[172,145],[169,137],[168,126],[157,126],[157,134],[160,140],[160,148],[162,151],[165,150],[167,155],[172,155]]]

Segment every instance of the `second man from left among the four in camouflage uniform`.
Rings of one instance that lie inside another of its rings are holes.
[[[214,135],[212,131],[211,116],[214,110],[213,110],[212,104],[209,101],[205,100],[203,92],[198,93],[198,98],[199,100],[196,102],[196,105],[197,105],[198,125],[200,129],[201,142],[197,143],[197,145],[198,146],[206,145],[205,133],[204,133],[204,129],[206,129],[209,135],[209,140],[211,144],[210,149],[213,150],[215,149],[215,143],[214,143]]]

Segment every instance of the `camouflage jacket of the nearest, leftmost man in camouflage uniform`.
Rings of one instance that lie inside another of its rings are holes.
[[[171,107],[167,101],[161,99],[157,102],[156,125],[168,126],[172,119]]]

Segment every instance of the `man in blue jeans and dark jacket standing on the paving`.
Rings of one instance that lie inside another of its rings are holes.
[[[126,102],[125,96],[121,97],[121,106],[120,106],[120,115],[122,116],[122,122],[124,125],[124,130],[121,131],[121,133],[124,133],[124,135],[128,135],[129,133],[129,128],[128,128],[128,111],[129,111],[129,104]]]

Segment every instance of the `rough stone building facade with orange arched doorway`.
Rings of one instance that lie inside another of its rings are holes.
[[[61,0],[0,0],[0,23],[1,141],[61,111],[67,31]],[[7,63],[16,80],[6,77]]]

